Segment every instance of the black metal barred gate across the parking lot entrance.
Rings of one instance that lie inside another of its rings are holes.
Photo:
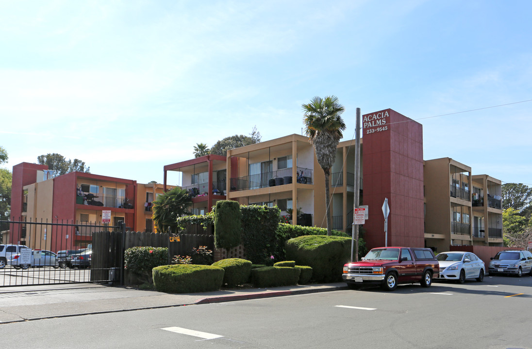
[[[122,284],[125,225],[118,223],[0,220],[0,287]]]

